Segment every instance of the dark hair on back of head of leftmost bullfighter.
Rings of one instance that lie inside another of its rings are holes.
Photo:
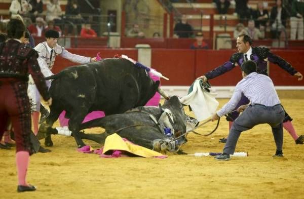
[[[24,34],[25,26],[19,19],[11,19],[7,26],[7,32],[9,38],[21,38]]]

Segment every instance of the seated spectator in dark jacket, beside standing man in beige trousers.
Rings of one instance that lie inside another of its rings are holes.
[[[277,0],[276,6],[272,8],[270,14],[270,26],[271,26],[272,38],[280,37],[282,30],[284,30],[286,27],[287,19],[288,19],[288,14],[285,8],[282,7],[282,1]]]

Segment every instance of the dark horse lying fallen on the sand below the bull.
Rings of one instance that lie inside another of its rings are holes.
[[[186,132],[186,115],[176,96],[166,100],[160,107],[143,106],[125,113],[89,121],[82,124],[80,130],[92,127],[102,127],[105,132],[101,134],[80,132],[80,137],[103,144],[108,135],[118,133],[135,144],[159,152],[177,151],[186,142],[186,138],[180,136]],[[164,129],[166,129],[165,132]],[[60,133],[47,124],[43,124],[37,136],[43,138],[49,134]],[[180,137],[176,139],[178,136]]]

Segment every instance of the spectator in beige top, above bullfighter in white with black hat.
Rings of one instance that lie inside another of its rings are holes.
[[[47,15],[46,15],[46,21],[52,21],[56,24],[61,23],[61,7],[60,2],[58,0],[50,0],[50,2],[47,3]]]

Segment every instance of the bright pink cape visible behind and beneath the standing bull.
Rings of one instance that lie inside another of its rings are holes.
[[[155,76],[154,74],[149,73],[151,79],[153,79],[153,81],[160,81],[160,77]],[[155,95],[153,96],[153,98],[151,98],[145,106],[158,106],[160,103],[160,99],[161,99],[161,95],[156,92]],[[69,119],[64,117],[65,115],[65,111],[62,111],[62,113],[59,115],[59,123],[61,127],[64,126],[68,126],[68,121]],[[82,123],[94,120],[96,118],[101,118],[104,117],[105,114],[103,111],[93,111],[90,112],[89,114],[87,114],[87,116],[85,117],[84,121]]]

